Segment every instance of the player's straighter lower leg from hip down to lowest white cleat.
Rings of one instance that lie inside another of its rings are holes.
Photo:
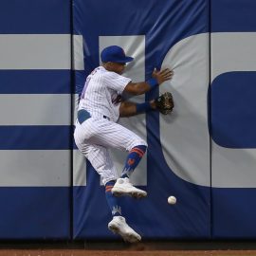
[[[134,229],[127,225],[125,218],[121,216],[119,198],[112,193],[112,188],[118,174],[108,150],[100,146],[104,143],[102,143],[98,135],[105,128],[104,123],[95,121],[94,119],[87,119],[82,124],[77,122],[74,134],[75,141],[82,154],[85,155],[94,169],[101,175],[102,182],[105,186],[106,200],[113,215],[112,221],[108,224],[108,229],[114,233],[118,233],[123,240],[135,243],[140,241],[141,237]],[[97,145],[94,145],[94,142],[97,142]]]

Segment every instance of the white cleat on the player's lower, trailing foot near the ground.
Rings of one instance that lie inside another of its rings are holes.
[[[141,236],[128,226],[124,217],[113,217],[113,220],[108,224],[108,229],[119,234],[125,242],[137,243],[141,240]]]

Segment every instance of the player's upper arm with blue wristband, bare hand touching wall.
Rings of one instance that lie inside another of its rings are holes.
[[[152,74],[152,79],[146,82],[129,82],[125,88],[124,92],[129,93],[131,95],[141,95],[144,94],[155,86],[160,85],[162,82],[171,80],[174,76],[174,71],[169,68],[165,68],[162,70],[154,70]]]

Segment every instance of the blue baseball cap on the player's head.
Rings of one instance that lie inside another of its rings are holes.
[[[102,63],[129,63],[134,60],[133,57],[125,55],[124,50],[119,46],[108,46],[101,51],[101,62]]]

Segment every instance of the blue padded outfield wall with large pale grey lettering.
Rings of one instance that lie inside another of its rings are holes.
[[[135,62],[125,76],[174,69],[174,112],[121,119],[144,137],[123,198],[144,239],[254,239],[256,20],[254,0],[27,0],[0,9],[0,238],[119,239],[100,177],[73,142],[86,76],[105,46]],[[73,36],[72,36],[73,35]],[[113,151],[119,172],[125,153]],[[167,204],[175,195],[177,204]]]

